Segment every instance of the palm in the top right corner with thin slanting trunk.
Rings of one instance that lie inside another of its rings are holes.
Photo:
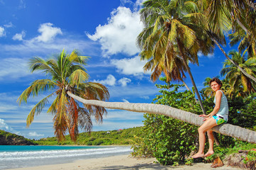
[[[239,30],[238,26],[248,34],[250,45],[255,44],[255,9],[250,8],[248,10],[247,8],[248,6],[252,6],[252,4],[249,4],[247,0],[201,0],[199,4],[201,4],[202,12],[206,16],[206,18],[202,17],[204,21],[207,21],[205,28],[208,30],[208,34],[211,35],[213,42],[235,67],[238,67],[246,77],[256,82],[256,78],[247,74],[239,64],[231,60],[223,50],[223,47],[221,47],[221,45],[226,44],[224,32],[228,33],[231,28],[237,31]]]

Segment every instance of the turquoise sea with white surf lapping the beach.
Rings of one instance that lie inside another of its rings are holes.
[[[130,146],[13,146],[0,145],[0,169],[65,164],[79,159],[130,154]]]

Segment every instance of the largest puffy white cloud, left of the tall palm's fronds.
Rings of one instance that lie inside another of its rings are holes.
[[[139,52],[136,46],[136,38],[143,30],[140,23],[140,14],[130,11],[130,8],[118,7],[112,11],[108,24],[96,28],[94,35],[87,36],[91,40],[99,40],[103,55],[115,55],[123,52],[126,55],[135,55]]]

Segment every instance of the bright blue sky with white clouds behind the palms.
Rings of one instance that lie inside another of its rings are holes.
[[[30,139],[54,136],[48,106],[26,128],[31,108],[46,94],[16,102],[40,72],[30,73],[28,60],[47,59],[62,52],[78,50],[89,56],[89,81],[104,84],[109,101],[151,103],[159,94],[159,81],[150,81],[143,72],[135,40],[143,30],[140,8],[143,0],[0,0],[0,129]],[[226,47],[226,52],[230,47]],[[198,89],[206,77],[219,75],[226,58],[216,49],[212,55],[199,55],[199,66],[189,64]],[[188,86],[192,84],[187,75]],[[177,83],[177,82],[175,82]],[[107,109],[102,124],[93,122],[93,131],[118,130],[143,125],[143,113]],[[81,131],[82,132],[82,131]]]

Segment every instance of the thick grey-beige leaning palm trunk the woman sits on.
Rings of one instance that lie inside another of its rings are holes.
[[[123,102],[106,102],[106,101],[96,101],[96,100],[86,100],[72,94],[67,91],[67,94],[80,101],[86,105],[100,106],[104,108],[121,109],[126,111],[140,112],[140,113],[152,113],[158,115],[167,115],[170,118],[182,120],[192,125],[202,125],[203,118],[199,117],[194,113],[187,111],[182,111],[177,108],[172,108],[165,105],[153,104],[153,103],[123,103]],[[222,124],[214,127],[212,129],[215,132],[221,133],[223,135],[228,135],[230,137],[235,137],[239,140],[244,140],[250,143],[256,143],[256,132],[252,130],[247,130],[245,128],[240,128],[239,126]]]

